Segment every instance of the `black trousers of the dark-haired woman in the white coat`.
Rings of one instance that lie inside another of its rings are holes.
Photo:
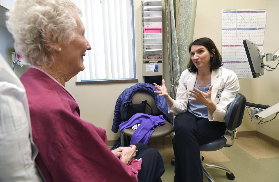
[[[174,130],[174,182],[202,182],[199,146],[224,135],[225,123],[197,118],[194,114],[185,112],[176,116]]]

